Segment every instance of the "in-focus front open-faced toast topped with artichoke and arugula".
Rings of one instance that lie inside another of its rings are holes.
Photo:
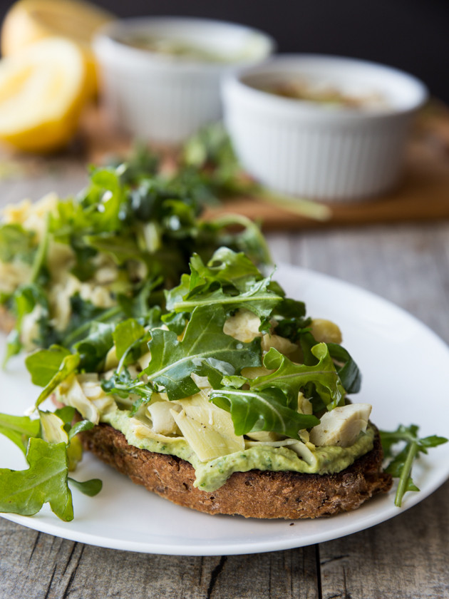
[[[387,491],[371,406],[347,396],[360,374],[336,324],[306,317],[229,248],[207,264],[194,255],[190,271],[164,310],[26,358],[44,386],[36,405],[53,395],[66,406],[41,411],[47,443],[73,461],[81,431],[135,483],[207,513],[315,518]]]

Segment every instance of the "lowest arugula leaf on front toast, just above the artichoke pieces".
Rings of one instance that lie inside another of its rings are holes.
[[[252,389],[220,389],[211,391],[210,401],[229,411],[236,435],[256,431],[274,431],[299,440],[299,430],[319,424],[316,416],[299,414],[289,406],[281,389],[267,387],[262,391]]]

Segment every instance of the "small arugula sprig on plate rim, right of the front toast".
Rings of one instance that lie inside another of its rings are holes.
[[[419,491],[419,488],[411,478],[413,462],[418,454],[427,454],[430,447],[436,447],[443,443],[447,443],[448,439],[437,435],[432,435],[419,439],[419,427],[416,424],[404,426],[401,424],[396,431],[379,431],[381,435],[382,447],[387,457],[393,456],[393,446],[397,443],[405,442],[405,446],[401,451],[393,456],[390,464],[386,468],[386,472],[391,476],[399,478],[396,497],[394,500],[395,506],[398,508],[402,505],[403,496],[407,491]]]

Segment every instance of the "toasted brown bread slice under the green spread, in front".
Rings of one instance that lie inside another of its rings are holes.
[[[376,493],[391,488],[391,475],[382,471],[378,434],[368,454],[336,474],[301,474],[252,470],[234,472],[216,491],[193,486],[195,470],[175,456],[131,446],[108,424],[82,434],[83,445],[106,464],[180,506],[210,514],[239,514],[245,518],[317,518],[351,511]]]

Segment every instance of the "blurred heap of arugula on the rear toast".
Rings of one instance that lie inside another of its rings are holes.
[[[87,188],[76,197],[58,200],[56,210],[47,214],[40,239],[17,222],[0,225],[1,262],[28,265],[31,270],[26,282],[0,294],[0,303],[16,319],[6,361],[20,352],[24,321],[36,309],[34,344],[73,347],[91,322],[118,322],[125,315],[162,304],[163,289],[176,284],[193,252],[207,260],[217,247],[226,245],[244,251],[259,265],[269,262],[259,227],[247,218],[226,215],[200,220],[205,203],[226,186],[213,185],[212,179],[212,175],[195,175],[190,168],[161,175],[158,158],[138,150],[128,163],[92,168]],[[53,257],[61,245],[71,252],[66,270],[81,284],[95,281],[103,262],[116,270],[110,284],[113,306],[98,307],[74,292],[65,330],[54,326],[49,298],[55,287]]]

